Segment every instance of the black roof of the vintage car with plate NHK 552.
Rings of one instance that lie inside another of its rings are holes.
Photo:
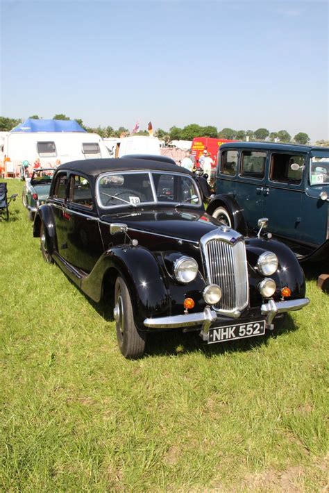
[[[136,158],[83,159],[66,162],[64,165],[58,166],[56,171],[83,172],[90,176],[98,176],[105,172],[142,171],[143,169],[171,173],[180,172],[192,176],[188,169],[170,162]]]

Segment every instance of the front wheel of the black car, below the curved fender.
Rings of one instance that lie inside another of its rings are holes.
[[[115,308],[113,310],[119,349],[125,358],[140,358],[145,349],[146,333],[135,326],[133,306],[123,278],[115,281]]]

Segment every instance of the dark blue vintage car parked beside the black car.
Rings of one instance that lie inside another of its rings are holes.
[[[299,260],[329,251],[329,148],[271,142],[232,142],[219,151],[216,195],[207,212],[242,234],[268,231]]]

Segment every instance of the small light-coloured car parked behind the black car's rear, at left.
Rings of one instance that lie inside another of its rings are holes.
[[[22,193],[23,205],[28,210],[28,219],[33,221],[37,208],[46,202],[49,196],[53,168],[38,168],[33,171],[31,178],[25,178]]]

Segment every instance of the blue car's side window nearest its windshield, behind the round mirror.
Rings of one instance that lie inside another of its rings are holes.
[[[271,156],[270,178],[272,181],[299,185],[303,176],[304,164],[304,156],[273,153]],[[298,165],[299,168],[292,169],[292,165]]]

